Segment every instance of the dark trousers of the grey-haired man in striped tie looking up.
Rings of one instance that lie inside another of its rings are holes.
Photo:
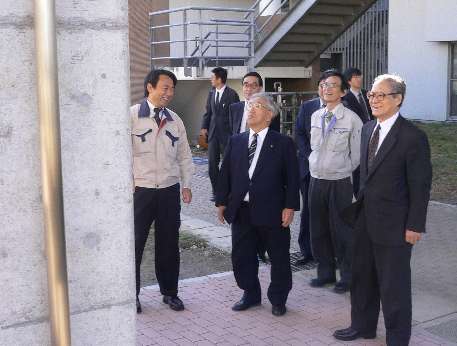
[[[244,290],[243,300],[260,303],[257,251],[262,242],[271,263],[271,283],[267,296],[271,304],[285,304],[292,289],[289,227],[258,227],[251,222],[249,202],[243,202],[232,223],[232,263],[238,287]]]

